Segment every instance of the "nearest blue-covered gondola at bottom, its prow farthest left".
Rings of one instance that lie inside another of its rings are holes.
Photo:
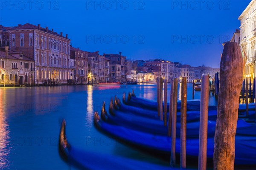
[[[69,144],[65,133],[66,122],[63,120],[59,134],[59,154],[68,164],[89,170],[170,170],[169,166],[152,164],[146,161],[128,159],[121,156],[106,155],[81,150]],[[176,168],[172,168],[176,170]]]

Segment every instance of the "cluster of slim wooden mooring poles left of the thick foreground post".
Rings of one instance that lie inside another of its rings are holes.
[[[181,79],[181,108],[180,108],[180,168],[186,168],[186,108],[187,108],[187,80]],[[178,79],[171,83],[168,133],[171,137],[171,167],[176,166],[176,124],[177,124],[177,91]],[[200,132],[199,132],[199,157],[198,169],[205,170],[207,166],[207,126],[208,126],[208,104],[209,104],[209,77],[203,76],[201,82],[201,102],[200,103]],[[163,110],[163,79],[157,78],[157,111],[160,119],[167,126],[167,81],[164,79],[164,110]],[[163,112],[164,111],[164,112]],[[164,113],[164,114],[163,114]]]

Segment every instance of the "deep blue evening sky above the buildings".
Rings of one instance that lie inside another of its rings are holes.
[[[3,26],[41,24],[68,34],[74,47],[131,59],[161,58],[219,67],[250,0],[0,1]]]

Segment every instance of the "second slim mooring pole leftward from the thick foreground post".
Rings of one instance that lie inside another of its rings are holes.
[[[186,168],[186,77],[181,82],[181,108],[180,108],[180,169]]]

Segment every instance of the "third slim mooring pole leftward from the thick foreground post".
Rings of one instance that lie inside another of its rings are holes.
[[[176,122],[177,122],[177,91],[178,91],[178,79],[173,81],[173,106],[172,106],[172,148],[171,148],[171,166],[176,164]]]

